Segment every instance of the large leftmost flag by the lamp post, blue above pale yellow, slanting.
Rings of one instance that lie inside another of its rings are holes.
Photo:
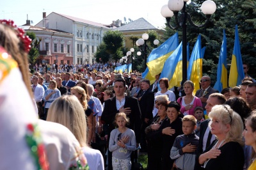
[[[164,62],[179,45],[178,33],[175,33],[159,47],[152,50],[147,59],[148,70],[155,76],[162,72]]]

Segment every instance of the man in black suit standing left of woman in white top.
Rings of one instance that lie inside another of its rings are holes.
[[[138,98],[141,109],[141,151],[147,151],[147,143],[145,138],[145,128],[150,125],[153,118],[154,109],[154,92],[150,89],[150,81],[148,79],[141,80],[141,97]]]

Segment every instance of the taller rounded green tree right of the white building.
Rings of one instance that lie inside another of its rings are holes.
[[[108,52],[115,61],[122,58],[124,35],[120,31],[107,31],[103,36],[103,42],[106,44],[106,52]]]

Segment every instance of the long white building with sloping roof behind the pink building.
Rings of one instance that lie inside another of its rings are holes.
[[[103,24],[89,20],[70,17],[60,13],[52,12],[36,24],[38,27],[56,29],[73,34],[72,51],[73,63],[93,63],[97,47],[102,43],[103,35],[111,30]]]

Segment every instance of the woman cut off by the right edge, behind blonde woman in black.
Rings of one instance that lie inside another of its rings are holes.
[[[252,115],[246,119],[243,136],[245,139],[245,144],[252,146],[253,150],[256,152],[256,111],[253,111]],[[252,164],[248,170],[256,169],[255,158],[256,154],[254,153],[251,161]]]

